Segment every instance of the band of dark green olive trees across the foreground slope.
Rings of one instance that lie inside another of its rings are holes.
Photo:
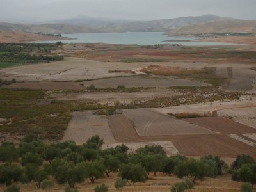
[[[138,148],[130,152],[125,145],[101,149],[103,140],[93,136],[83,145],[74,142],[46,144],[33,135],[28,135],[19,147],[3,143],[0,147],[0,183],[6,184],[6,191],[19,191],[19,182],[34,182],[38,189],[49,190],[56,184],[67,184],[65,191],[77,191],[76,184],[86,179],[93,184],[102,177],[118,172],[115,188],[136,186],[146,182],[156,172],[176,175],[187,180],[174,184],[171,191],[193,188],[197,179],[217,177],[232,173],[232,180],[256,184],[256,163],[248,155],[237,156],[228,168],[218,156],[204,156],[188,159],[185,156],[166,156],[160,145]],[[244,184],[242,188],[248,188]],[[95,186],[95,191],[108,191],[105,184]]]

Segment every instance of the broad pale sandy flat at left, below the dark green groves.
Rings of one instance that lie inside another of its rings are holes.
[[[127,70],[127,68],[136,69],[141,67],[136,63],[129,64],[129,67],[127,67],[127,63],[107,63],[84,58],[65,58],[64,61],[52,63],[3,68],[0,70],[0,78],[15,78],[17,81],[75,81],[131,75],[108,72],[108,70],[116,70],[116,68]]]

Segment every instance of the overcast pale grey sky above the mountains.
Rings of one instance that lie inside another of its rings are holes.
[[[0,0],[0,22],[45,22],[87,15],[154,20],[205,14],[256,20],[256,0]]]

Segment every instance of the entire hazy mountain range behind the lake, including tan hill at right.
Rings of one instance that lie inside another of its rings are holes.
[[[129,21],[75,17],[45,24],[0,23],[0,31],[31,33],[109,33],[109,32],[167,32],[170,34],[256,32],[256,21],[239,20],[215,15],[180,17],[152,21]]]

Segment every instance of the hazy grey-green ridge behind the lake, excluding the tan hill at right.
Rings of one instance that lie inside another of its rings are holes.
[[[97,32],[167,32],[191,24],[208,22],[220,17],[214,15],[203,15],[199,17],[180,17],[176,19],[161,19],[152,21],[115,22],[106,20],[93,22],[93,20],[61,20],[60,23],[49,24],[9,24],[0,23],[0,31],[24,31],[32,33],[97,33]],[[56,21],[58,22],[58,21]]]

